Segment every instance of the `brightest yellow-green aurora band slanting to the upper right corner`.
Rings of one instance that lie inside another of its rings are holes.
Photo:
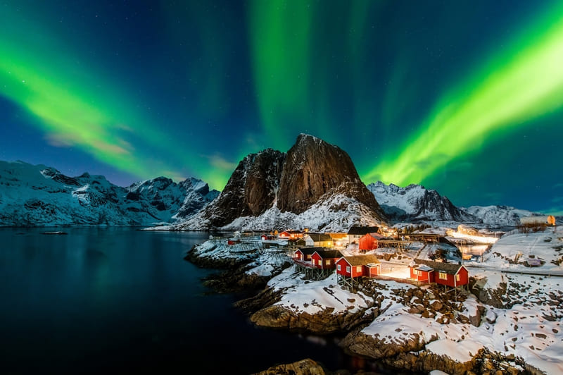
[[[445,95],[427,121],[384,155],[365,181],[421,183],[448,162],[479,151],[484,142],[530,125],[563,106],[563,6],[550,9],[535,27]]]

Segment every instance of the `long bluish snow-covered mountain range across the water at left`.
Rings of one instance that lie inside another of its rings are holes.
[[[139,226],[188,218],[219,192],[195,178],[154,178],[129,187],[103,176],[0,161],[0,226]]]

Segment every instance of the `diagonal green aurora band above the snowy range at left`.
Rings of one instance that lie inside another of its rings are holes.
[[[0,21],[6,35],[10,20],[18,19],[9,8],[4,9]],[[84,70],[77,62],[78,54],[69,56],[69,46],[34,23],[27,22],[25,29],[27,33],[17,41],[0,38],[0,94],[24,109],[31,116],[30,123],[51,145],[77,147],[139,178],[152,175],[181,180],[186,176],[177,165],[191,166],[212,187],[224,186],[232,164],[224,165],[217,156],[195,164],[201,155],[171,145],[173,137],[151,125],[146,113],[125,99],[129,97],[126,93],[103,80],[103,73]],[[39,40],[37,36],[41,36]],[[153,159],[152,149],[169,154],[168,159],[176,162]],[[215,168],[208,168],[209,164]]]

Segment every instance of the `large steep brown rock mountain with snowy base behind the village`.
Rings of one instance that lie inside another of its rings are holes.
[[[227,186],[179,230],[348,230],[386,221],[342,149],[301,134],[287,153],[265,149],[242,159]]]

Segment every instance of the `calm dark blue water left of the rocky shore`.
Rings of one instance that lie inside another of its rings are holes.
[[[68,235],[43,235],[63,230]],[[310,357],[397,374],[334,338],[255,328],[184,257],[208,233],[0,228],[3,374],[250,374]]]

